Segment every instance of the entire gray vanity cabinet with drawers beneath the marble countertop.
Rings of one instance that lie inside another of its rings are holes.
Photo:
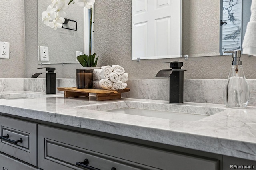
[[[232,165],[256,168],[256,161],[252,160],[109,134],[99,136],[36,120],[0,115],[0,127],[1,136],[8,134],[14,141],[22,138],[22,143],[17,144],[0,140],[0,170],[230,170],[234,169]]]

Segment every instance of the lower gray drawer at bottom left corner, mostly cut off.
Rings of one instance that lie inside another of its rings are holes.
[[[37,170],[37,168],[24,164],[4,154],[0,154],[0,170]]]

